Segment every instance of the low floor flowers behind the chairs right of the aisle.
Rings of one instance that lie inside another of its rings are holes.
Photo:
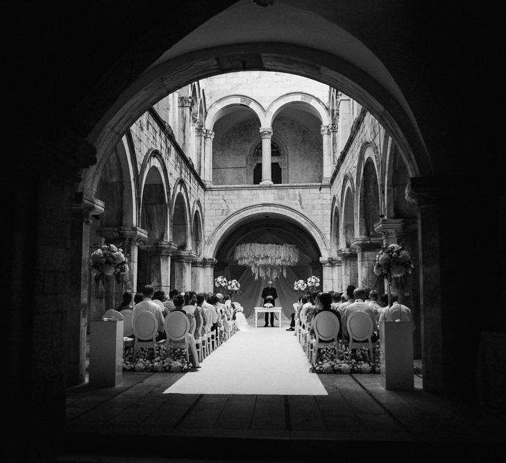
[[[352,352],[338,342],[319,348],[318,362],[311,367],[312,373],[380,373],[380,348],[374,348],[373,362],[369,360],[367,348]]]

